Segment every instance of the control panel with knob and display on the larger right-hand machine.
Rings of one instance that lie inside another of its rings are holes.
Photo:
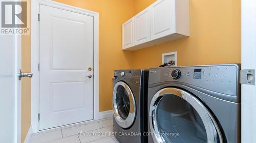
[[[180,75],[178,73],[180,72]],[[182,82],[218,93],[236,96],[239,66],[236,64],[150,69],[148,84]]]

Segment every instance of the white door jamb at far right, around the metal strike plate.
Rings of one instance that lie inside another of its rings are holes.
[[[242,0],[242,70],[256,69],[256,1]],[[255,78],[255,77],[254,77]],[[242,84],[242,143],[256,140],[256,86]]]

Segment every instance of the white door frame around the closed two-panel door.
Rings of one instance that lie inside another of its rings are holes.
[[[69,6],[66,4],[49,1],[33,0],[31,1],[31,126],[33,133],[39,132],[39,23],[38,13],[39,5],[46,5],[54,8],[68,10],[84,15],[92,16],[94,19],[94,47],[93,47],[93,66],[94,66],[94,120],[99,119],[99,13]]]

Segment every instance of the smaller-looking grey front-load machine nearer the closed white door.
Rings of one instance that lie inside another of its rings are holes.
[[[114,135],[119,142],[147,142],[148,70],[115,70]]]

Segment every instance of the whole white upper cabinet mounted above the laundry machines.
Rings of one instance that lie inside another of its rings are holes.
[[[158,0],[123,24],[123,49],[138,50],[187,36],[189,0]]]

